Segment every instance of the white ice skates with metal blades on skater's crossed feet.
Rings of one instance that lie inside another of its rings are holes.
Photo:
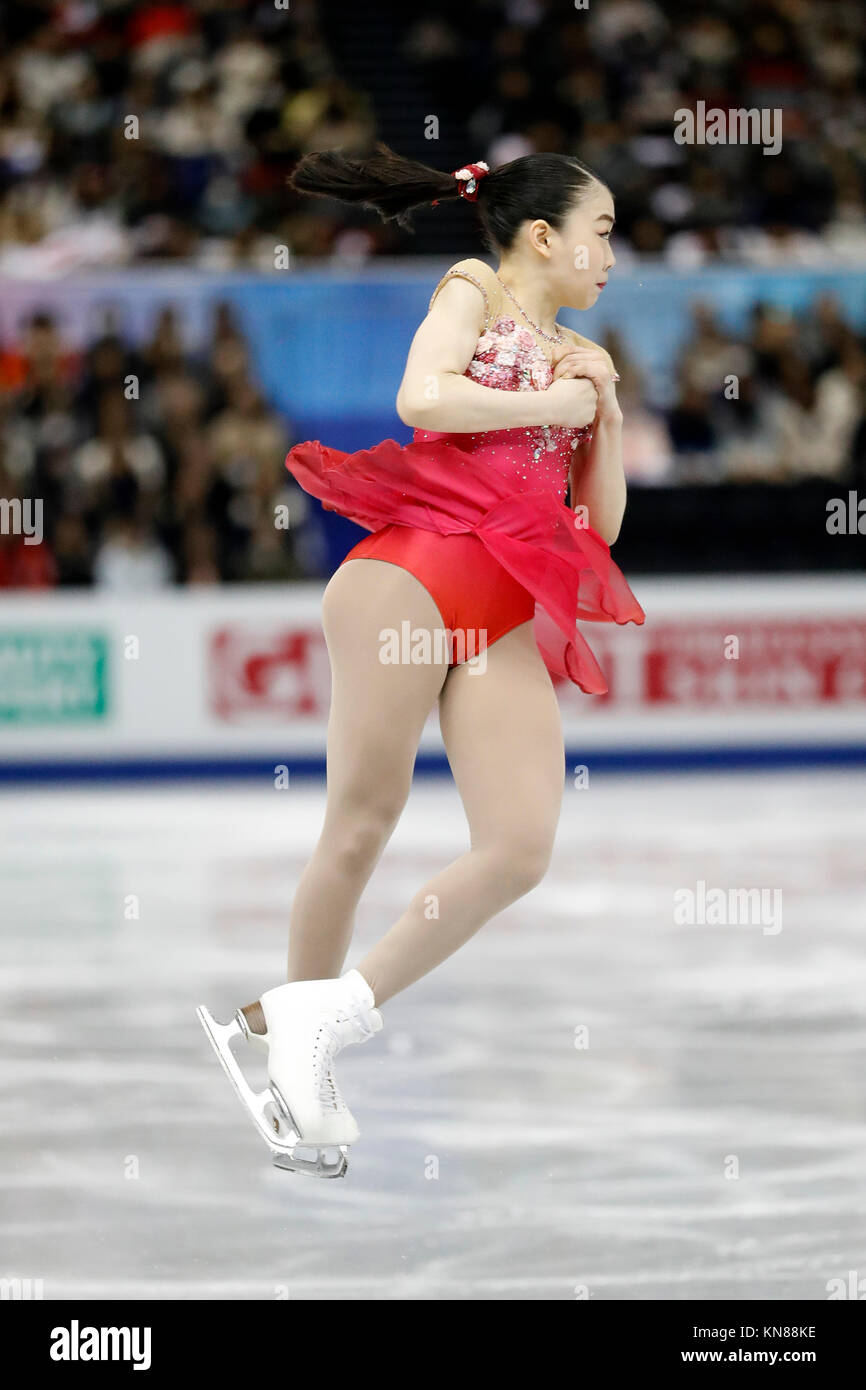
[[[267,1033],[253,1033],[238,1009],[231,1023],[217,1020],[202,1005],[199,1022],[246,1105],[277,1168],[342,1177],[346,1148],[360,1130],[334,1077],[334,1058],[348,1042],[366,1042],[382,1027],[373,991],[357,970],[339,980],[297,980],[261,995]],[[268,1055],[268,1081],[253,1091],[231,1051],[243,1038]],[[304,1158],[297,1150],[310,1150]],[[336,1156],[329,1158],[328,1150]]]

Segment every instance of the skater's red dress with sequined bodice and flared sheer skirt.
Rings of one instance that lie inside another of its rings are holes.
[[[545,391],[553,370],[541,339],[503,304],[491,267],[457,263],[431,304],[450,275],[470,279],[485,300],[466,375],[498,391]],[[564,500],[573,449],[591,434],[591,425],[416,430],[409,445],[385,439],[349,455],[313,439],[295,445],[286,467],[328,512],[371,532],[343,564],[373,557],[410,570],[443,627],[484,628],[487,645],[531,619],[548,670],[603,695],[607,684],[578,620],[639,624],[645,613],[610,548]]]

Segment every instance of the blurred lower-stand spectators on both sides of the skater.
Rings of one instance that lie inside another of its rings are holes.
[[[632,488],[866,484],[866,342],[831,295],[801,316],[758,304],[742,338],[696,304],[666,409],[627,342],[605,345]],[[318,509],[284,467],[292,442],[227,304],[192,354],[172,307],[139,348],[108,317],[83,353],[35,313],[0,352],[0,498],[42,500],[43,542],[0,531],[0,588],[318,575]]]

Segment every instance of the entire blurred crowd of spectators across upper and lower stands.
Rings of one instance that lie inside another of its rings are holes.
[[[620,267],[863,264],[865,76],[853,0],[4,0],[0,275],[431,250],[286,188],[307,150],[377,138],[448,168],[431,113],[491,167],[585,160],[616,195]],[[780,108],[781,150],[677,143],[698,101]],[[605,345],[630,484],[866,482],[866,343],[831,295],[759,303],[741,336],[696,304],[663,403],[628,342]],[[42,545],[0,530],[0,587],[321,573],[291,442],[227,304],[196,353],[170,307],[145,343],[107,320],[75,352],[46,296],[0,346],[0,499],[44,507]]]

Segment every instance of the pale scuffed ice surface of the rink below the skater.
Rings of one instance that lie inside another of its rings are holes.
[[[826,1300],[866,1275],[866,771],[567,785],[544,883],[341,1054],[336,1182],[271,1168],[195,1015],[285,977],[322,809],[311,783],[3,792],[3,1276]],[[450,781],[416,783],[346,967],[466,847]],[[678,924],[699,883],[780,910]]]

